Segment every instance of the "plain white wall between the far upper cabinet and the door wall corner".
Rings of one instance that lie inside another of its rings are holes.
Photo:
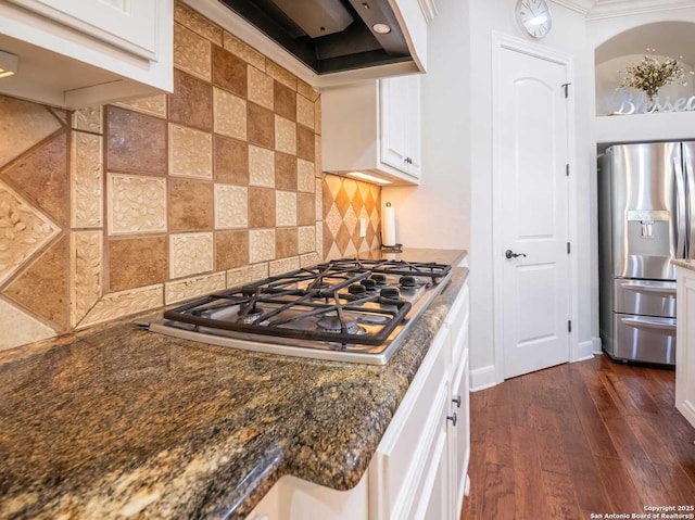
[[[468,7],[439,0],[428,27],[422,77],[422,182],[383,188],[381,203],[396,214],[396,239],[406,248],[469,249],[470,56]]]

